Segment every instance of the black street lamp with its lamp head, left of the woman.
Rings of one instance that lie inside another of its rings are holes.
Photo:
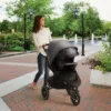
[[[30,19],[31,19],[31,16],[33,14],[33,9],[29,9],[29,14],[30,14]],[[28,43],[27,43],[27,40],[26,40],[26,37],[27,37],[27,13],[24,13],[24,51],[28,49]]]

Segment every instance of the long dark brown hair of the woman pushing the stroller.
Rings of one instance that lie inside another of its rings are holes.
[[[33,22],[33,28],[32,32],[38,32],[40,30],[40,19],[43,18],[44,16],[36,16],[34,17],[34,22]]]

